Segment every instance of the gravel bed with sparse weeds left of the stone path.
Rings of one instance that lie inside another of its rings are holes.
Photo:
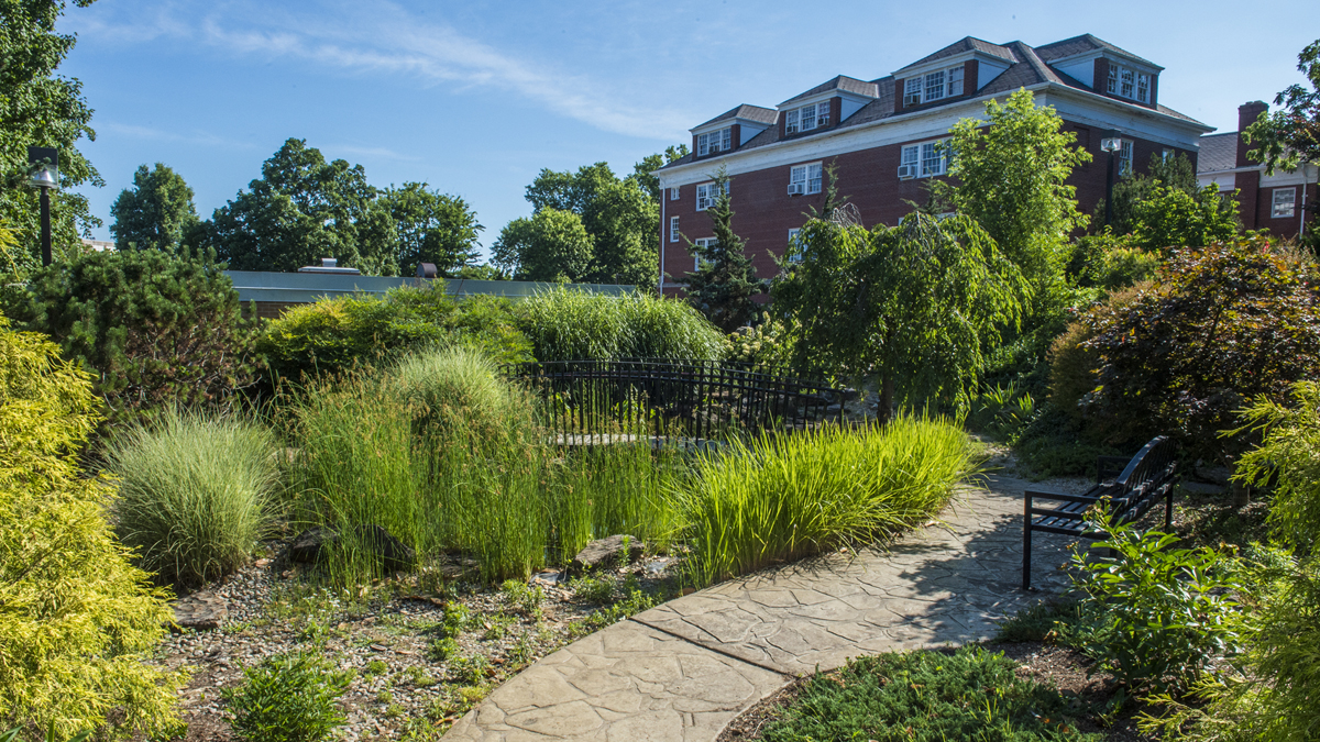
[[[172,634],[153,661],[191,673],[181,692],[189,742],[230,739],[220,689],[238,687],[244,667],[300,650],[355,672],[341,698],[347,716],[341,739],[437,739],[519,669],[595,631],[602,622],[595,614],[626,588],[671,595],[673,562],[648,557],[590,582],[545,570],[529,582],[528,594],[541,593],[529,611],[525,599],[499,588],[449,582],[422,591],[416,578],[380,582],[345,599],[281,560],[261,558],[205,588],[226,603],[219,628]],[[449,631],[453,643],[444,646],[449,656],[442,659],[436,648],[446,635],[446,609],[449,626],[461,628]],[[466,621],[455,619],[463,614]]]

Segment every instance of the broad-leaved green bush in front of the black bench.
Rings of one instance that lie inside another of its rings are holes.
[[[1238,588],[1229,557],[1172,548],[1177,539],[1168,533],[1114,525],[1107,508],[1094,508],[1088,527],[1105,533],[1093,548],[1117,556],[1073,553],[1081,619],[1064,642],[1094,658],[1094,671],[1134,689],[1181,689],[1216,658],[1239,650],[1237,603],[1224,594]]]

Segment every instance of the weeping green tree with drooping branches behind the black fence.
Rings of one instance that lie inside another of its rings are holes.
[[[799,349],[841,375],[876,375],[879,416],[896,399],[960,405],[997,327],[1022,316],[1028,283],[970,217],[913,213],[873,231],[813,219],[803,261],[776,279],[775,308],[797,318]]]

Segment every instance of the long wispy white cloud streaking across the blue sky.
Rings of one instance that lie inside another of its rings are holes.
[[[180,20],[185,16],[194,20]],[[492,87],[603,131],[667,141],[686,137],[685,116],[675,111],[638,104],[630,92],[606,90],[601,81],[556,70],[544,59],[520,59],[388,3],[304,12],[230,3],[193,13],[166,3],[131,24],[87,20],[78,30],[119,42],[170,37],[236,55],[302,59],[354,74],[409,75],[458,91]]]

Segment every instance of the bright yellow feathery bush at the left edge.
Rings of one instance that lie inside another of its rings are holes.
[[[0,718],[165,738],[185,677],[144,660],[169,595],[115,543],[110,481],[78,471],[95,409],[90,374],[0,317]]]

